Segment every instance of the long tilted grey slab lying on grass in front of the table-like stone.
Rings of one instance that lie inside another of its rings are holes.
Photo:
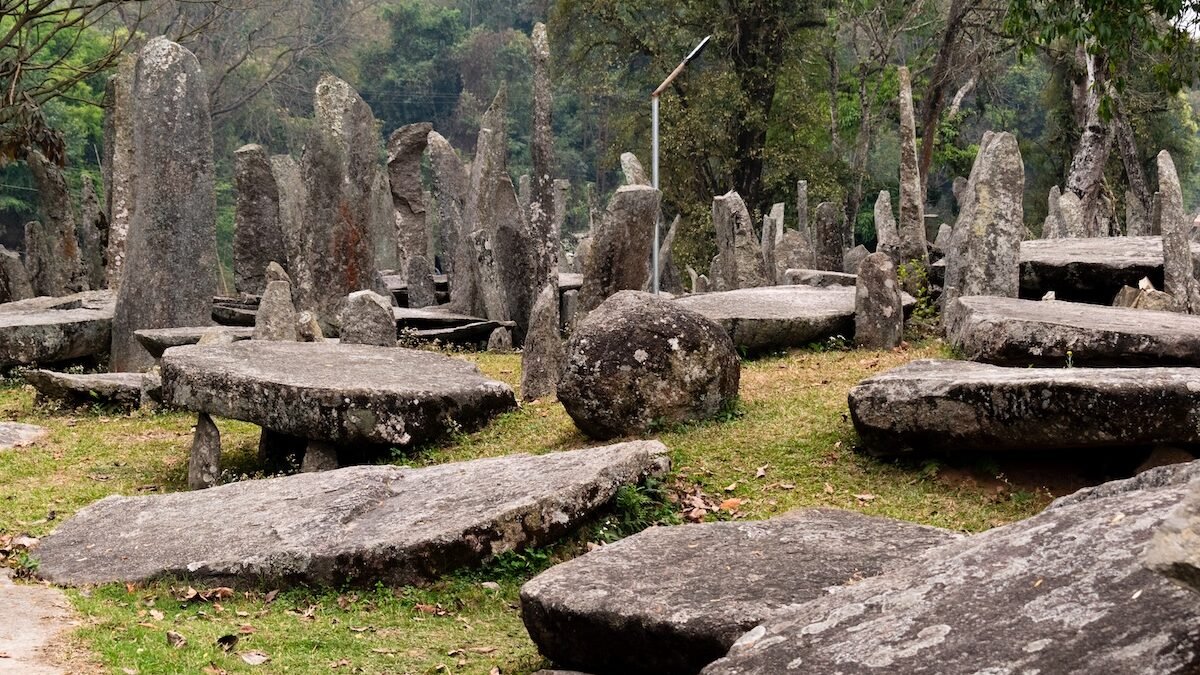
[[[112,496],[42,539],[37,573],[66,585],[167,577],[244,586],[422,584],[551,543],[622,485],[668,467],[665,446],[635,441]]]

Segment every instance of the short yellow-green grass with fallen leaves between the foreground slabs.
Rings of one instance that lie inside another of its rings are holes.
[[[517,354],[457,354],[517,387]],[[518,589],[558,560],[652,522],[758,519],[800,507],[839,507],[962,531],[1028,516],[1050,498],[995,466],[895,464],[853,450],[846,393],[863,377],[913,358],[947,356],[940,342],[902,352],[793,351],[744,364],[742,398],[721,420],[664,429],[674,468],[661,484],[626,490],[618,507],[547,549],[510,554],[424,589],[235,591],[186,599],[182,581],[68,591],[83,616],[68,647],[112,673],[532,673],[548,665],[521,625]],[[0,536],[42,536],[107,495],[184,489],[191,425],[182,413],[66,413],[0,386],[0,417],[50,429],[30,448],[0,450]],[[218,420],[230,477],[258,471],[257,429]],[[553,401],[504,414],[487,429],[424,448],[428,465],[586,447]],[[703,508],[695,508],[700,503]],[[204,590],[204,589],[200,589]],[[167,632],[182,647],[168,645]],[[236,644],[228,651],[221,640]],[[265,665],[239,656],[262,652]]]

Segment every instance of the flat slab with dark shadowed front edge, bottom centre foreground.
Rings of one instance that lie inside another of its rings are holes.
[[[652,527],[535,577],[521,616],[557,665],[697,673],[773,613],[958,538],[836,509]]]

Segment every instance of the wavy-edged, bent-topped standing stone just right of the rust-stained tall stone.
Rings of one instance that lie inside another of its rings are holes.
[[[391,184],[391,207],[400,258],[396,274],[401,276],[408,276],[408,265],[413,258],[425,257],[428,247],[425,192],[421,187],[421,157],[425,156],[431,133],[433,125],[426,121],[404,125],[388,137],[388,179]],[[426,267],[428,267],[427,259]]]

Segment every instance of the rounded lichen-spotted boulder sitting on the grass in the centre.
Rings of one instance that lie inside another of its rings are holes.
[[[715,322],[623,291],[576,325],[558,399],[584,434],[614,438],[718,414],[737,396],[740,374]]]

